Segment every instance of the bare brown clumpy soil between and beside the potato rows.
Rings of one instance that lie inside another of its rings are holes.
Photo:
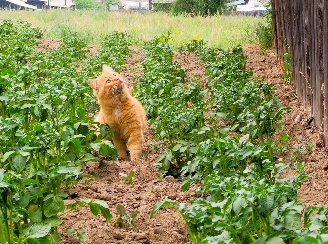
[[[48,49],[54,44],[59,45],[59,41],[42,39],[41,49]],[[93,52],[99,49],[100,46],[88,46]],[[121,74],[128,82],[128,88],[132,91],[135,82],[134,77],[141,75],[141,70],[133,68],[136,64],[134,61],[143,61],[144,57],[139,53],[139,48],[134,49],[132,56],[126,60],[127,68],[121,71]],[[293,109],[282,118],[283,122],[288,125],[276,132],[274,141],[280,142],[277,139],[281,132],[293,134],[290,141],[292,149],[294,146],[303,146],[307,141],[312,141],[315,147],[312,152],[301,156],[301,162],[305,161],[308,166],[306,171],[316,179],[307,178],[298,191],[299,200],[307,200],[303,204],[304,207],[313,204],[321,204],[324,207],[328,206],[328,189],[327,189],[327,169],[328,159],[326,149],[322,140],[322,133],[318,132],[318,128],[313,126],[313,123],[307,123],[311,117],[309,112],[303,108],[302,102],[297,98],[292,85],[286,85],[286,81],[280,78],[277,68],[276,58],[272,51],[262,53],[257,47],[244,47],[245,54],[252,54],[247,60],[247,68],[253,69],[256,75],[264,76],[265,82],[275,83],[277,89],[277,97],[281,100],[281,104],[292,107]],[[200,77],[202,86],[206,82],[204,77],[205,68],[202,67],[196,60],[193,53],[175,52],[174,61],[181,64],[187,74],[187,80],[192,79],[192,74]],[[299,115],[299,116],[298,116]],[[71,212],[63,216],[62,229],[80,228],[87,235],[87,243],[149,243],[149,244],[182,244],[187,242],[188,229],[180,219],[178,212],[172,207],[164,207],[154,214],[154,217],[148,222],[149,214],[153,209],[154,204],[165,198],[176,200],[177,202],[188,202],[196,197],[194,192],[196,184],[190,186],[185,192],[180,189],[181,179],[167,176],[165,178],[157,178],[157,169],[153,166],[157,156],[161,153],[162,145],[158,143],[158,149],[154,149],[152,141],[152,131],[149,125],[145,132],[145,140],[143,145],[144,156],[137,161],[104,161],[87,162],[83,168],[84,173],[94,172],[96,178],[91,181],[79,180],[78,183],[69,189],[70,197],[65,200],[70,203],[79,198],[92,198],[105,200],[113,214],[112,221],[107,225],[105,218],[102,216],[94,216],[88,208],[77,209],[76,212]],[[287,158],[285,162],[295,162],[290,156],[293,155],[293,150],[287,153],[280,153],[279,156]],[[136,169],[133,185],[122,178],[119,173],[129,173]],[[280,177],[286,175],[294,175],[292,167],[288,167],[281,173]],[[131,229],[128,225],[116,225],[117,216],[114,214],[117,204],[121,204],[130,211],[138,210],[140,214],[133,220],[135,228]],[[77,237],[66,235],[62,237],[63,243],[79,243]]]

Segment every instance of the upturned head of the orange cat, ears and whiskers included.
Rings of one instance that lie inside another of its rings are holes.
[[[88,80],[94,94],[102,97],[117,97],[124,85],[123,77],[107,65],[103,65],[101,75]]]

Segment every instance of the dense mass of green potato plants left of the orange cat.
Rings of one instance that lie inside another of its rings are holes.
[[[59,244],[62,234],[74,232],[84,243],[83,230],[58,232],[60,216],[87,205],[107,223],[112,215],[97,199],[65,208],[65,190],[78,177],[92,177],[81,172],[84,162],[96,160],[91,151],[117,155],[102,140],[113,130],[88,116],[95,99],[87,79],[105,62],[122,67],[129,43],[124,33],[104,36],[102,50],[77,72],[74,66],[87,53],[77,35],[50,51],[35,51],[41,32],[31,24],[5,20],[0,33],[0,46],[8,47],[0,54],[0,243]]]

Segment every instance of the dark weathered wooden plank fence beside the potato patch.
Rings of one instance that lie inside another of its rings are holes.
[[[289,45],[296,94],[328,146],[328,0],[272,0],[272,20],[280,70]]]

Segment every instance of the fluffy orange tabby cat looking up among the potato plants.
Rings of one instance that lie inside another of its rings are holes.
[[[88,80],[100,106],[96,121],[108,124],[114,130],[112,139],[119,157],[126,159],[129,147],[131,160],[139,159],[146,120],[145,110],[130,95],[119,73],[106,65],[102,68],[98,78]]]

